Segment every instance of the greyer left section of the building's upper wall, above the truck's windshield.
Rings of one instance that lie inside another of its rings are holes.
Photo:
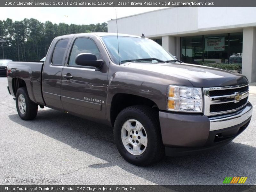
[[[197,29],[197,7],[173,7],[117,19],[118,33],[147,37],[177,34]],[[116,33],[116,20],[108,21],[108,32]]]

